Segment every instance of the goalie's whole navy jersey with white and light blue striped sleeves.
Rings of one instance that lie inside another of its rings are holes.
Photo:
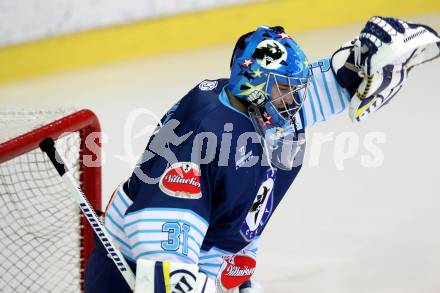
[[[300,133],[349,101],[328,59],[310,68],[311,87],[296,115]],[[267,163],[252,122],[229,103],[227,82],[205,80],[176,103],[115,191],[105,227],[133,263],[193,263],[221,280],[228,256],[241,255],[251,264],[236,275],[252,275],[258,238],[301,165],[283,171]]]

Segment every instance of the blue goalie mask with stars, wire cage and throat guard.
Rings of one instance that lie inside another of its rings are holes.
[[[282,27],[261,26],[238,40],[227,88],[247,106],[271,163],[283,170],[301,149],[295,114],[309,79],[306,56]]]

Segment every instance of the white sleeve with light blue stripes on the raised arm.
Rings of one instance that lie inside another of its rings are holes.
[[[306,128],[343,112],[350,101],[349,92],[336,81],[330,59],[321,59],[310,64],[310,71],[311,82],[301,109]]]

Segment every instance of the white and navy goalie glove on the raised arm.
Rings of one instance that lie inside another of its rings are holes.
[[[350,118],[361,121],[386,105],[414,66],[439,56],[440,37],[432,28],[396,18],[371,18],[358,38],[332,56],[333,73],[352,96]]]

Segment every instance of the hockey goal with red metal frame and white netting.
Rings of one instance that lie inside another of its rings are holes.
[[[100,209],[99,147],[86,147],[87,137],[99,146],[99,131],[89,110],[0,111],[0,292],[83,290],[92,230],[38,144],[45,137],[56,140],[90,203]]]

